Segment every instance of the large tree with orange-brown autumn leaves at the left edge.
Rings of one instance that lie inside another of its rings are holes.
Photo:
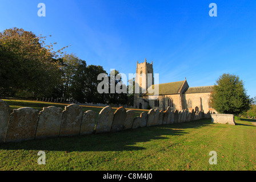
[[[60,81],[59,64],[54,57],[63,48],[54,52],[53,44],[45,45],[45,40],[46,36],[36,36],[22,28],[0,32],[1,95],[51,95]]]

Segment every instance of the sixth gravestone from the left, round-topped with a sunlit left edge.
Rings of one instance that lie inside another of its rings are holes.
[[[114,111],[112,107],[106,106],[100,112],[98,116],[96,133],[110,132],[114,117]]]

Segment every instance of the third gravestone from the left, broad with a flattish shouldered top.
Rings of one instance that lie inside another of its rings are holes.
[[[35,138],[58,137],[61,129],[62,110],[59,107],[43,107],[40,111]]]

